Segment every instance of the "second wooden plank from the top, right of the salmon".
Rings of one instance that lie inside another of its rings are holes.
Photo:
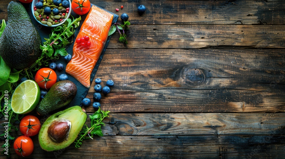
[[[198,49],[209,47],[284,48],[284,26],[267,25],[130,25],[128,44],[119,42],[119,33],[108,48]],[[142,34],[142,31],[144,32]]]

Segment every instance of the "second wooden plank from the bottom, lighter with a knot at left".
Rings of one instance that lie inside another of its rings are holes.
[[[43,124],[45,118],[39,119]],[[285,113],[111,113],[104,123],[105,136],[285,134]],[[90,125],[89,117],[86,124]],[[0,132],[4,131],[0,127]],[[13,131],[13,135],[23,134]]]

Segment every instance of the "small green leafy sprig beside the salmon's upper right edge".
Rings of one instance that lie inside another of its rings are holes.
[[[120,38],[119,38],[119,41],[121,43],[125,43],[125,44],[128,44],[128,41],[127,41],[127,35],[125,34],[125,29],[129,29],[128,25],[131,25],[130,22],[128,21],[124,21],[124,24],[119,24],[119,23],[115,23],[111,26],[110,30],[109,30],[109,35],[112,35],[116,32],[116,30],[118,30],[119,34],[120,34]],[[121,33],[121,31],[123,31],[123,34]]]

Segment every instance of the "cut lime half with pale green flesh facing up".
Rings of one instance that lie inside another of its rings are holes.
[[[39,100],[40,87],[35,81],[26,80],[16,87],[11,97],[11,108],[17,114],[27,114],[36,108]]]

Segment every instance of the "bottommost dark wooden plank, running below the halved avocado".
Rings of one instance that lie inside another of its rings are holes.
[[[104,136],[46,152],[32,137],[29,158],[283,158],[284,136]],[[3,143],[2,141],[0,142]],[[11,158],[19,156],[12,152]]]

